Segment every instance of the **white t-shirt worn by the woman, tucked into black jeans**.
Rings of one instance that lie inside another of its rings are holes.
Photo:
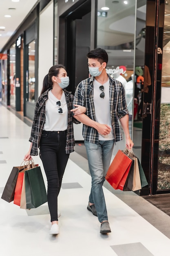
[[[56,102],[60,101],[61,106],[57,106]],[[62,108],[62,114],[59,114],[58,109]],[[46,122],[44,129],[46,131],[64,131],[68,126],[68,108],[64,91],[61,99],[57,99],[51,90],[48,93],[48,100],[46,101]]]

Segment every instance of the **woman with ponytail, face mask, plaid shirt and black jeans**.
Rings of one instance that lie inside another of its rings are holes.
[[[57,196],[60,192],[62,177],[69,154],[74,151],[73,122],[79,124],[71,114],[73,95],[65,90],[69,77],[63,65],[54,65],[44,77],[41,95],[35,106],[35,115],[29,141],[31,146],[24,160],[38,155],[47,177],[47,199],[51,215],[50,234],[59,234]],[[77,105],[74,114],[86,112]]]

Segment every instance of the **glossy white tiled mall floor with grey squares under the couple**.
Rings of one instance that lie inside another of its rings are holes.
[[[20,166],[29,150],[31,127],[2,105],[0,119],[2,194],[11,169]],[[136,143],[136,146],[139,145]],[[41,166],[46,184],[40,158],[33,159]],[[112,229],[108,235],[99,234],[97,217],[86,209],[91,177],[87,160],[76,152],[68,161],[58,198],[59,235],[49,235],[47,203],[37,209],[24,210],[0,199],[0,255],[169,256],[170,217],[133,192],[115,191],[107,182],[104,186]]]

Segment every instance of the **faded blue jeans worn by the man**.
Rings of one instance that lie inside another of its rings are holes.
[[[92,178],[89,202],[95,204],[99,222],[108,220],[102,186],[110,166],[114,144],[114,139],[99,141],[98,144],[84,141],[88,157],[88,165]]]

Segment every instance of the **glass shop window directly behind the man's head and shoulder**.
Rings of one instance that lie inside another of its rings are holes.
[[[108,53],[107,73],[125,88],[132,133],[135,1],[98,0],[97,47]]]

